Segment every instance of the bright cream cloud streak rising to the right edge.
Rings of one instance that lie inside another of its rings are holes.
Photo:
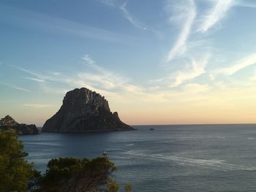
[[[228,66],[222,69],[216,69],[214,72],[211,73],[211,77],[212,79],[214,79],[214,77],[216,77],[218,74],[232,75],[240,71],[241,69],[244,69],[247,66],[251,66],[254,64],[256,64],[256,53],[249,55],[245,58],[242,58],[233,66]]]

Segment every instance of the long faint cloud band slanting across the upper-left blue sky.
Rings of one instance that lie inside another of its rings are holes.
[[[12,14],[9,14],[12,12]],[[64,18],[56,18],[39,12],[18,9],[10,6],[0,7],[0,21],[23,26],[31,30],[50,34],[69,34],[80,38],[89,38],[106,42],[126,43],[135,42],[135,39],[127,34],[120,34],[102,28],[87,26]]]

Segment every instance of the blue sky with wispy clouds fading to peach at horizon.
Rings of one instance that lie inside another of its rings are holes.
[[[0,117],[86,87],[131,125],[256,123],[256,1],[1,0]]]

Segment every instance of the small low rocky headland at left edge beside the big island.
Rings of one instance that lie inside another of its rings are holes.
[[[1,118],[0,120],[0,129],[9,130],[14,129],[16,134],[39,134],[39,130],[35,125],[27,125],[25,123],[17,123],[12,117],[9,115],[5,116],[5,118]]]

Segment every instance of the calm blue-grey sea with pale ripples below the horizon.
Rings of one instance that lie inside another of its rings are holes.
[[[256,125],[134,126],[138,131],[20,136],[37,169],[108,151],[134,192],[256,191]],[[150,131],[149,128],[154,128]]]

